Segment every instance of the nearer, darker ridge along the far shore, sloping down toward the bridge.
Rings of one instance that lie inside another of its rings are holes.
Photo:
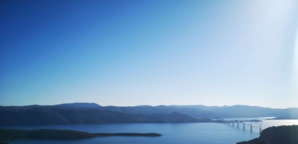
[[[31,109],[2,107],[0,116],[0,125],[212,122],[211,119],[196,119],[178,112],[144,115],[60,106],[52,109],[42,106]]]

